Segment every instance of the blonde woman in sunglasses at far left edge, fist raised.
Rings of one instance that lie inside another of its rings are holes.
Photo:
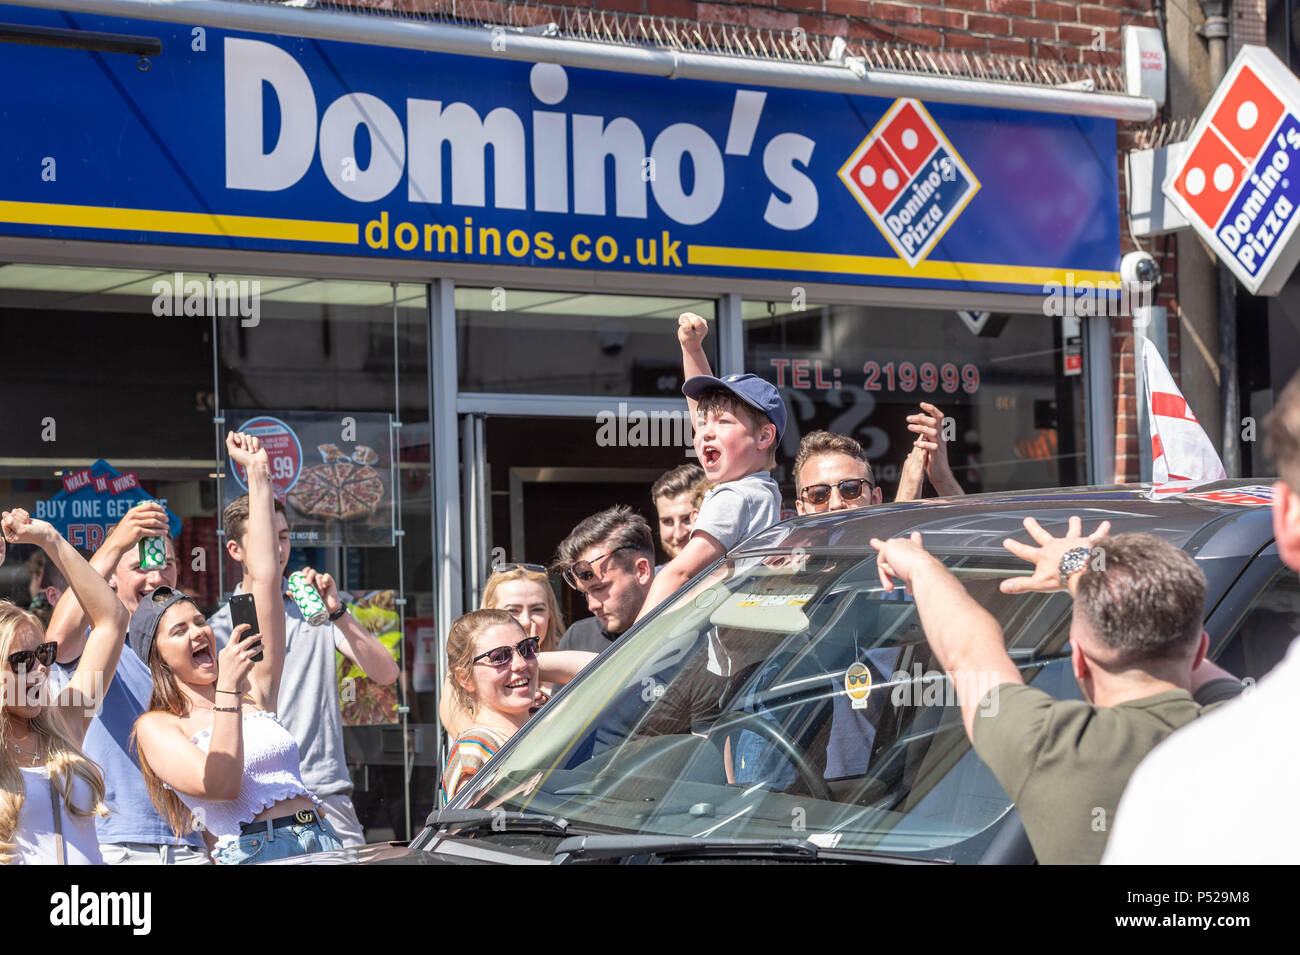
[[[126,608],[46,521],[16,508],[0,516],[0,530],[8,543],[46,552],[91,626],[77,672],[51,699],[57,644],[35,615],[0,602],[0,863],[103,864],[95,817],[108,812],[104,774],[81,747],[122,654]]]

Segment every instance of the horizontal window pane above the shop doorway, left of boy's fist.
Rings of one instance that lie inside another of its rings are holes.
[[[708,299],[456,288],[462,391],[681,398],[677,316],[710,321]]]

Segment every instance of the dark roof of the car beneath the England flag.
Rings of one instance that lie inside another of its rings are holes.
[[[1196,494],[1268,487],[1271,478],[1214,481]],[[919,530],[926,546],[941,551],[1005,554],[1008,537],[1030,541],[1023,526],[1034,517],[1061,534],[1072,515],[1084,533],[1110,521],[1112,534],[1156,534],[1199,559],[1251,556],[1273,539],[1271,508],[1186,495],[1148,496],[1152,485],[1108,485],[1035,491],[1001,491],[965,498],[931,498],[900,504],[805,515],[776,524],[741,543],[733,556],[772,548],[870,550],[874,537]]]

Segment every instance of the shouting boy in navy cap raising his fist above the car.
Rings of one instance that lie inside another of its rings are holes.
[[[708,326],[686,312],[677,320],[681,364],[696,453],[715,482],[705,495],[690,539],[655,574],[637,620],[751,534],[781,517],[781,491],[772,481],[776,446],[785,430],[785,403],[771,382],[754,374],[714,378],[702,342]]]

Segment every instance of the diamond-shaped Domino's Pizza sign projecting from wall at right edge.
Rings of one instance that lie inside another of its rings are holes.
[[[1243,47],[1164,192],[1252,295],[1277,295],[1300,261],[1300,79]]]

